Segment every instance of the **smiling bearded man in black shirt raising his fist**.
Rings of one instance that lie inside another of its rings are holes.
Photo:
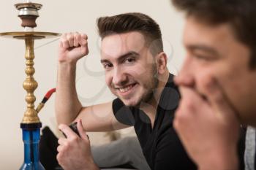
[[[134,126],[152,170],[196,169],[173,129],[180,96],[166,66],[158,24],[147,15],[127,13],[99,18],[97,26],[105,82],[118,98],[82,107],[75,90],[75,68],[77,61],[89,53],[87,36],[64,34],[59,48],[56,118],[58,123],[83,123],[78,121],[81,138],[67,125],[59,125],[67,136],[59,139],[60,165],[65,170],[98,169],[91,158],[86,131]]]

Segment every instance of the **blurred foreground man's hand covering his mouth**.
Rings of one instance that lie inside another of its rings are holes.
[[[236,169],[239,123],[237,113],[214,78],[202,80],[200,93],[180,85],[181,102],[174,127],[200,169]]]

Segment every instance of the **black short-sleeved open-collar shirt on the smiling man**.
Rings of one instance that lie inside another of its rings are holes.
[[[124,106],[119,98],[113,101],[116,119],[120,123],[134,126],[143,154],[152,170],[197,169],[173,128],[173,118],[179,98],[178,88],[173,82],[173,74],[169,74],[159,99],[153,128],[149,117],[142,110]]]

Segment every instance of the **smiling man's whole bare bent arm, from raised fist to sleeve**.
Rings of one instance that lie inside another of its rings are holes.
[[[75,88],[76,63],[89,53],[86,34],[69,33],[61,36],[56,87],[56,119],[59,124],[83,120],[86,131],[111,131],[127,128],[113,115],[112,102],[82,107]]]

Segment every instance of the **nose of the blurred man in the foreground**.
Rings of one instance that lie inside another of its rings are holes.
[[[192,58],[186,56],[184,63],[182,64],[181,71],[178,72],[178,76],[175,77],[176,85],[194,86],[194,72],[195,66],[193,66]]]

